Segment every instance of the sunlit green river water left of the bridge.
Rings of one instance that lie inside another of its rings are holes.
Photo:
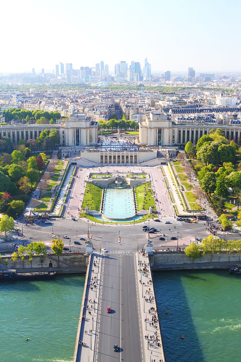
[[[71,362],[84,279],[57,276],[0,284],[0,360]]]

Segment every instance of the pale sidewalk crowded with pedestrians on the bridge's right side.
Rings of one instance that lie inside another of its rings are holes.
[[[147,362],[165,362],[149,258],[146,254],[143,256],[140,251],[136,254],[135,262],[145,360]]]

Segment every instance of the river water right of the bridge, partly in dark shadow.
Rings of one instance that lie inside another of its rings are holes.
[[[154,272],[154,287],[166,362],[240,361],[241,276],[227,270]]]

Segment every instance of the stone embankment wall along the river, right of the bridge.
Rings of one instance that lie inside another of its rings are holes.
[[[227,269],[240,262],[240,254],[221,252],[191,259],[184,251],[157,251],[149,260],[152,270]]]

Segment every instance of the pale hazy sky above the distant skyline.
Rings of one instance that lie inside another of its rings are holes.
[[[240,70],[240,10],[240,0],[3,1],[0,72],[146,56],[153,72]]]

